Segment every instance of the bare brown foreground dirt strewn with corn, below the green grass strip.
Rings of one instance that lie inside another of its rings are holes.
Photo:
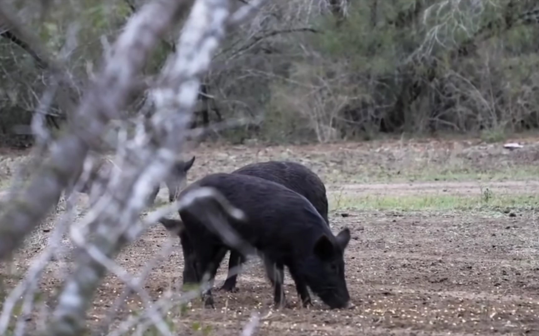
[[[426,212],[395,216],[349,212],[331,216],[334,231],[348,226],[353,239],[345,253],[348,289],[354,310],[330,311],[315,299],[300,308],[290,277],[286,295],[296,308],[270,311],[272,290],[258,262],[247,264],[239,292],[215,291],[216,310],[195,301],[175,319],[182,335],[200,335],[193,323],[212,335],[238,334],[253,310],[265,316],[258,335],[537,335],[539,334],[539,225],[531,214],[489,218],[468,213]],[[135,272],[167,240],[161,227],[123,252],[122,267]],[[150,275],[154,297],[181,276],[179,246]],[[219,270],[224,281],[226,262]],[[110,298],[122,285],[109,276],[91,316],[105,316]],[[132,304],[140,308],[136,300]],[[133,308],[132,308],[133,309]],[[125,313],[123,314],[125,315]],[[89,322],[93,323],[92,320]]]

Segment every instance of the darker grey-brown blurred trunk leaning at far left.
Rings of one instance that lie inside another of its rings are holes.
[[[89,146],[98,141],[108,120],[118,115],[136,82],[135,75],[158,37],[176,18],[180,4],[185,2],[151,2],[129,21],[113,57],[82,99],[75,113],[76,124],[52,145],[50,158],[0,218],[0,258],[6,258],[39,223],[81,167]]]

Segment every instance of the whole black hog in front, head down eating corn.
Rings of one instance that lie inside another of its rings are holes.
[[[292,275],[303,306],[311,303],[307,287],[330,308],[348,306],[350,296],[344,277],[343,258],[350,240],[348,228],[333,235],[307,198],[264,178],[211,174],[189,185],[179,197],[197,187],[217,189],[233,206],[245,212],[246,222],[233,220],[224,215],[224,211],[219,211],[217,215],[225,218],[239,238],[256,249],[257,253],[251,251],[250,254],[261,256],[274,288],[276,306],[285,303],[282,290],[284,266]],[[181,220],[160,220],[169,230],[178,230],[182,237],[182,249],[195,252],[196,262],[193,263],[190,256],[191,260],[185,260],[185,268],[194,268],[195,279],[190,280],[198,283],[201,283],[202,275],[207,271],[210,284],[213,284],[226,251],[240,252],[238,246],[225,242],[222,235],[211,227],[208,209],[215,203],[198,201],[179,211]],[[241,253],[244,254],[244,251]],[[211,289],[205,297],[206,305],[213,306]]]

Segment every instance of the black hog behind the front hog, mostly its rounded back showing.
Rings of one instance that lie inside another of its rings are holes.
[[[326,187],[318,175],[300,163],[291,161],[256,162],[234,170],[232,174],[257,176],[284,185],[307,198],[329,225]],[[233,272],[232,270],[241,267],[243,263],[245,263],[245,258],[240,253],[230,252],[229,274],[221,287],[222,290],[237,291],[236,281],[239,271]]]

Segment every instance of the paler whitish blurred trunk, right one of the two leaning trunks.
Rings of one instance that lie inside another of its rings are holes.
[[[171,3],[175,7],[171,8]],[[140,234],[140,228],[133,223],[137,222],[144,207],[144,199],[154,185],[169,174],[175,153],[182,150],[185,137],[182,131],[189,125],[201,77],[208,70],[212,55],[225,36],[226,26],[241,22],[261,3],[247,4],[231,15],[230,0],[195,2],[177,43],[178,52],[167,60],[157,88],[151,94],[156,113],[149,123],[141,121],[140,133],[126,142],[121,173],[112,176],[111,183],[115,187],[113,195],[103,201],[107,206],[88,225],[94,227],[95,238],[89,245],[84,244],[84,232],[72,228],[72,237],[79,242],[81,252],[77,268],[65,282],[47,334],[73,335],[81,332],[93,292],[106,270],[110,269],[107,264],[122,246]],[[141,39],[146,35],[148,39],[151,36],[155,43],[157,30],[150,30],[150,27],[158,21],[164,28],[174,19],[178,9],[178,3],[170,1],[150,3],[142,8],[138,17],[130,20],[125,33],[116,43],[115,55],[120,57],[119,51],[123,47],[134,47],[134,41],[129,38]],[[160,20],[155,20],[156,17]],[[141,29],[140,32],[130,31],[137,27]],[[145,32],[143,28],[154,34]],[[158,321],[155,323],[158,325]],[[162,325],[161,332],[166,333],[163,329]]]

